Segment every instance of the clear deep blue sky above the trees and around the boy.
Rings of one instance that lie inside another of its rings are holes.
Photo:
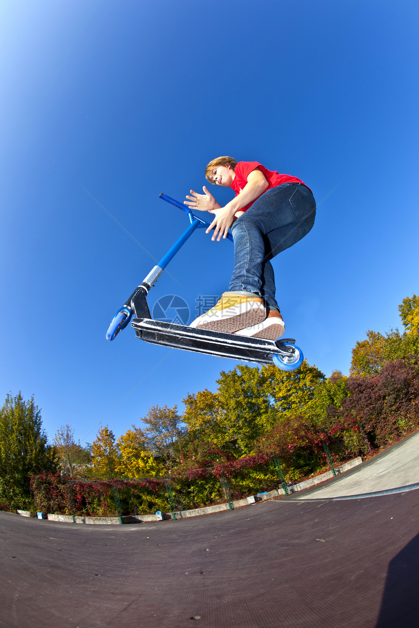
[[[347,374],[419,291],[418,17],[413,0],[3,3],[3,399],[33,394],[50,437],[70,423],[85,443],[215,389],[234,361],[105,332],[155,264],[134,239],[160,259],[187,226],[160,192],[200,190],[220,154],[312,188],[316,224],[275,258],[277,295],[308,362]],[[199,231],[150,306],[176,294],[192,318],[231,269],[232,245]]]

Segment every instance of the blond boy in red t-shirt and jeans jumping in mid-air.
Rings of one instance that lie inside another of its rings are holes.
[[[227,156],[210,161],[205,178],[231,187],[236,197],[220,207],[204,186],[204,194],[190,190],[192,196],[184,203],[215,215],[206,231],[214,229],[212,241],[226,238],[231,227],[234,271],[229,290],[190,327],[276,340],[285,325],[275,300],[270,260],[312,229],[316,212],[312,191],[295,176]]]

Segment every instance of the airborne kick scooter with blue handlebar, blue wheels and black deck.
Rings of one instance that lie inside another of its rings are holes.
[[[185,212],[189,219],[189,225],[160,262],[151,269],[143,282],[134,290],[122,308],[117,311],[106,332],[106,339],[114,340],[132,319],[131,326],[134,328],[136,337],[151,344],[217,357],[228,357],[233,360],[275,364],[282,371],[296,371],[302,365],[304,356],[293,338],[281,338],[281,340],[248,338],[236,333],[213,332],[207,329],[195,329],[187,325],[153,320],[146,299],[150,288],[154,286],[167,264],[187,239],[192,236],[193,232],[196,229],[209,227],[209,222],[205,222],[205,220],[192,214],[191,210],[183,203],[163,193],[160,194],[160,198]],[[229,232],[227,239],[232,241],[231,232]]]

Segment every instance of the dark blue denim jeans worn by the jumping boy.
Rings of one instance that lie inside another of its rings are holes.
[[[234,271],[229,290],[260,295],[279,310],[269,260],[306,236],[314,224],[316,202],[301,183],[283,183],[264,192],[231,227]]]

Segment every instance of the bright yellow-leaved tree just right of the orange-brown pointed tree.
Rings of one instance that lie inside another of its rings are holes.
[[[150,451],[146,449],[144,435],[132,426],[117,440],[119,458],[116,471],[120,478],[140,478],[159,475],[163,469]]]

